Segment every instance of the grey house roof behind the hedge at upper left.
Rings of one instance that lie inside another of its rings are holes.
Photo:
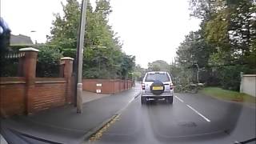
[[[14,45],[33,45],[33,42],[30,37],[22,34],[10,35],[10,46]]]

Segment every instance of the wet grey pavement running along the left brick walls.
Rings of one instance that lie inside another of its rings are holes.
[[[83,98],[82,114],[77,114],[76,108],[68,105],[30,116],[2,118],[1,134],[7,142],[18,144],[81,143],[138,94],[139,85],[119,94]]]

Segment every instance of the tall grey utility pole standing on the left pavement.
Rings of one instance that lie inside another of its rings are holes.
[[[86,7],[87,0],[82,0],[82,10],[81,10],[81,19],[79,27],[79,39],[78,39],[78,54],[77,62],[78,71],[77,71],[77,113],[82,113],[82,58],[83,58],[83,46],[86,30]]]

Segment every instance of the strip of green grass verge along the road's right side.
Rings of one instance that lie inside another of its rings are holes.
[[[219,87],[206,87],[202,90],[199,90],[199,93],[228,101],[256,104],[256,98],[251,95],[232,90],[223,90]]]

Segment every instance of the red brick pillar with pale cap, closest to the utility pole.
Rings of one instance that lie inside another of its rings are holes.
[[[61,70],[60,73],[66,79],[66,103],[71,103],[74,95],[72,91],[72,73],[73,73],[73,61],[74,58],[64,57],[61,58]]]

